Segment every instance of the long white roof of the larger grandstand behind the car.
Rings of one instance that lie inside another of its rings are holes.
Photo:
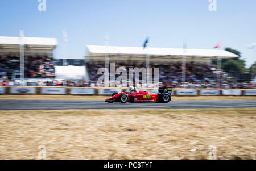
[[[108,53],[110,55],[154,55],[154,56],[198,56],[198,57],[238,57],[234,53],[216,49],[177,49],[177,48],[146,48],[142,47],[105,47],[97,45],[87,45],[87,55],[100,55]]]

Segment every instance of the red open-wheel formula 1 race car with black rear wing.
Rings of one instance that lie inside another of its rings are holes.
[[[159,102],[168,103],[171,101],[171,88],[159,88],[157,94],[151,94],[148,91],[139,91],[139,93],[113,93],[112,97],[106,99],[108,103],[127,103],[127,102]]]

